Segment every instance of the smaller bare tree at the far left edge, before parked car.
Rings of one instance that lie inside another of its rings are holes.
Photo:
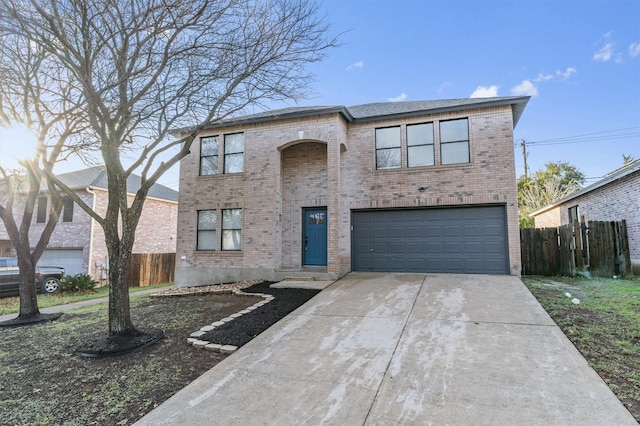
[[[49,243],[63,205],[46,174],[51,174],[55,162],[73,149],[71,141],[79,123],[74,115],[62,112],[73,111],[74,105],[69,102],[81,94],[68,85],[64,70],[58,70],[57,74],[40,72],[47,63],[46,51],[30,45],[28,38],[2,34],[0,53],[0,125],[21,123],[36,136],[36,150],[21,160],[22,169],[0,164],[0,219],[16,251],[20,269],[18,320],[32,321],[40,316],[34,286],[36,263]],[[57,101],[62,104],[48,102],[52,91],[65,93]],[[51,196],[49,216],[39,238],[32,242],[29,230],[34,206],[47,181]]]

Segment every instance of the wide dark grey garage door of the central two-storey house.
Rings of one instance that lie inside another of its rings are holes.
[[[508,274],[504,206],[352,214],[354,271]]]

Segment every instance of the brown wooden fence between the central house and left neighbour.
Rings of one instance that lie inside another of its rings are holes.
[[[175,253],[134,253],[129,272],[130,287],[173,282]]]

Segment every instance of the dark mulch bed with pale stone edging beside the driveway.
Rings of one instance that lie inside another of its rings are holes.
[[[298,288],[270,288],[269,285],[271,284],[273,283],[263,282],[243,291],[245,293],[270,294],[275,299],[250,314],[243,315],[223,326],[216,327],[214,330],[199,337],[199,339],[240,347],[320,292],[319,290]]]

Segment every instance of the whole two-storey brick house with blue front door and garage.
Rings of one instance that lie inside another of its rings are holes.
[[[180,166],[176,284],[520,274],[529,97],[293,107],[214,123]]]

